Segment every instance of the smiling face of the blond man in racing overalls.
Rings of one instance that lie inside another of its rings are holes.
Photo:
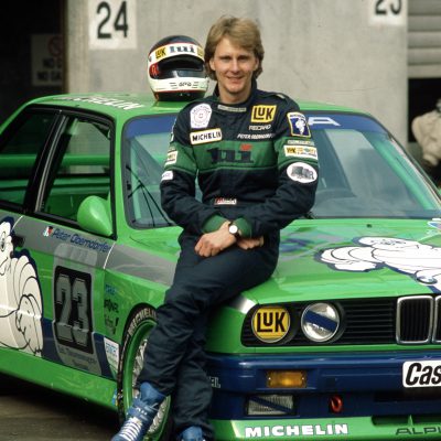
[[[209,67],[216,73],[222,103],[245,101],[251,90],[252,73],[259,67],[254,52],[234,45],[224,37],[216,46]]]

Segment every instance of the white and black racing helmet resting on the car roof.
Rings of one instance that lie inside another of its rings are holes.
[[[186,35],[170,35],[149,52],[147,75],[160,101],[202,98],[208,88],[204,50]]]

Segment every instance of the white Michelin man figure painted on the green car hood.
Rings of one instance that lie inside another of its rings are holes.
[[[358,247],[331,248],[320,260],[344,271],[389,267],[441,291],[441,248],[392,237],[362,237]]]

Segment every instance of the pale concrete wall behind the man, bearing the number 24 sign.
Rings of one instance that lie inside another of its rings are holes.
[[[112,36],[120,0],[99,14],[99,0],[67,1],[69,92],[149,90],[147,54],[158,40],[182,33],[204,45],[219,15],[249,17],[266,49],[260,88],[362,108],[406,142],[406,0],[127,0],[129,34],[119,44],[97,41],[96,31],[101,24]]]

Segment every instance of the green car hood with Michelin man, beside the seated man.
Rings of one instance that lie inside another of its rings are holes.
[[[441,292],[441,222],[297,220],[281,232],[273,277],[256,303]]]

